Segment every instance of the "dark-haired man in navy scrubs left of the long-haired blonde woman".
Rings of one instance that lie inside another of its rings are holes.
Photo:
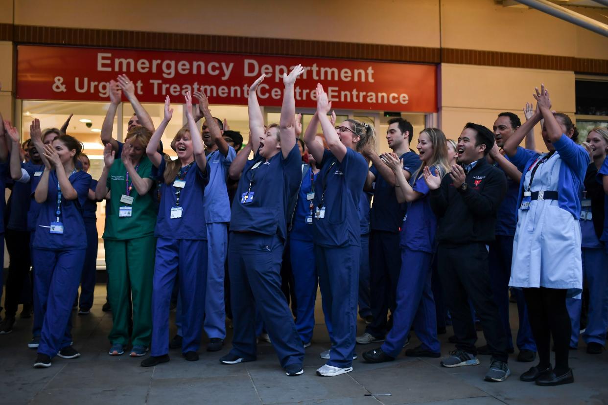
[[[386,140],[389,148],[403,161],[406,179],[420,166],[420,158],[410,149],[412,124],[403,118],[389,120]],[[371,146],[373,148],[373,146]],[[407,206],[399,204],[395,194],[395,174],[371,148],[362,151],[371,160],[365,182],[365,191],[373,191],[370,211],[370,309],[371,323],[365,333],[356,338],[359,344],[382,342],[390,329],[387,315],[396,307],[396,288],[401,271],[399,227],[403,223]],[[360,280],[359,284],[364,283]]]

